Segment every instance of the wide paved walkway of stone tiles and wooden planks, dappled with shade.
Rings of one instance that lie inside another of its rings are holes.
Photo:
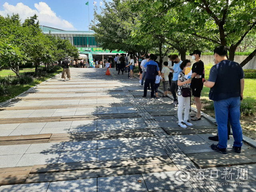
[[[0,108],[0,192],[256,191],[256,149],[213,152],[212,122],[181,129],[169,98],[110,71],[71,68]]]

